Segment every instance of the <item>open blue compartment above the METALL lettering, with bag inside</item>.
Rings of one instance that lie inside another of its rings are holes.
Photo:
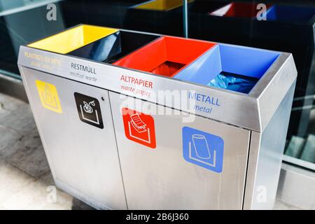
[[[174,78],[248,93],[279,55],[279,52],[270,50],[220,44],[206,52]],[[226,87],[216,85],[215,83],[222,80],[223,76],[228,79],[234,77],[237,81],[235,82],[234,79]],[[243,84],[237,87],[236,85],[240,83]],[[250,83],[252,83],[251,87],[248,87]]]

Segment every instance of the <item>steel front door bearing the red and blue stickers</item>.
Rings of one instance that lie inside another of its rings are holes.
[[[156,115],[165,107],[109,97],[129,209],[242,208],[250,131],[200,116],[183,123],[188,113]]]

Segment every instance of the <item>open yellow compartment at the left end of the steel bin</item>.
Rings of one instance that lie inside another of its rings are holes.
[[[116,33],[119,29],[97,27],[92,25],[79,25],[62,31],[59,34],[43,38],[40,41],[30,43],[29,47],[41,50],[49,50],[60,54],[66,54],[99,40],[105,36]]]

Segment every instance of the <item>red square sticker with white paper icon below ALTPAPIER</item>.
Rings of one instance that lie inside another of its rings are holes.
[[[123,108],[123,122],[127,139],[155,148],[155,127],[152,116]]]

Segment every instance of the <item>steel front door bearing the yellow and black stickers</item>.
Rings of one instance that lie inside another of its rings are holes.
[[[108,91],[26,67],[22,76],[54,178],[89,204],[127,209]]]

